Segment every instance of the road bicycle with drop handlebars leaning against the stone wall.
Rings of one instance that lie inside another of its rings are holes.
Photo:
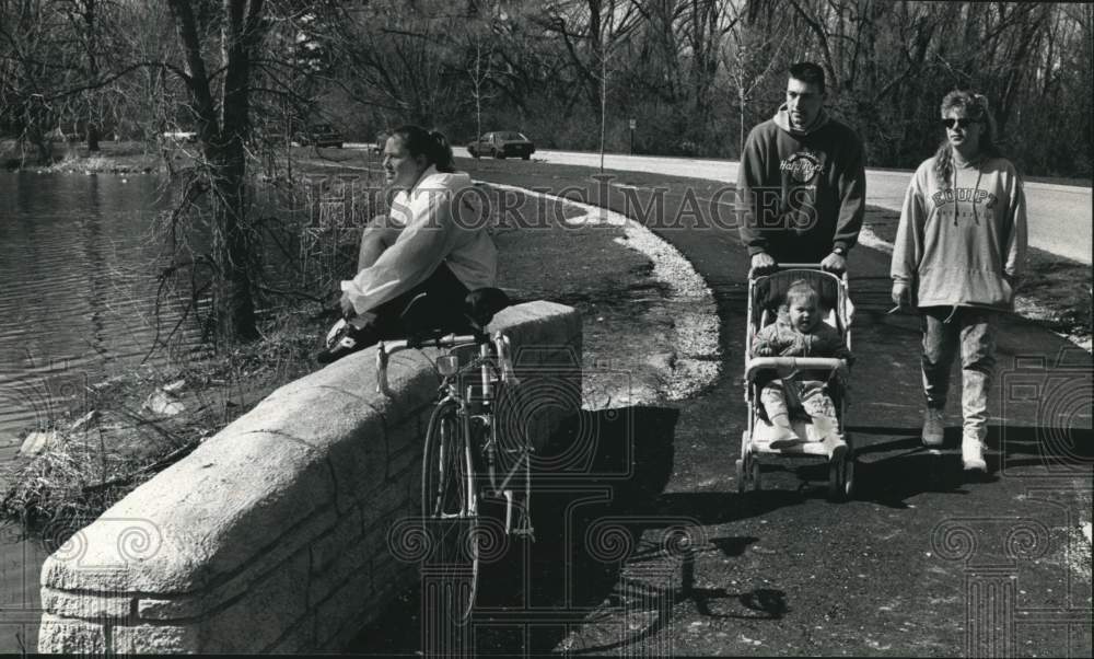
[[[501,332],[489,335],[484,330],[492,315],[491,310],[469,313],[469,334],[437,336],[434,331],[432,335],[381,342],[376,349],[376,390],[386,395],[392,393],[387,384],[392,355],[411,348],[445,350],[434,361],[441,384],[422,450],[421,515],[427,537],[435,542],[434,565],[458,579],[453,589],[458,622],[470,616],[478,589],[482,533],[479,500],[504,498],[505,534],[535,540],[528,516],[534,448],[526,437],[517,438],[515,446],[503,446],[513,438],[499,432],[502,390],[515,388],[519,381],[510,360],[509,337]],[[461,365],[458,352],[470,347],[477,348],[476,357]],[[511,464],[499,469],[503,458]],[[524,496],[514,524],[512,485],[521,474]]]

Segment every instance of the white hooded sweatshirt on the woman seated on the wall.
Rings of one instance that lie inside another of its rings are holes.
[[[392,300],[444,263],[468,290],[494,286],[498,251],[487,233],[472,178],[464,172],[426,170],[392,201],[389,220],[399,227],[395,243],[341,289],[358,313]]]

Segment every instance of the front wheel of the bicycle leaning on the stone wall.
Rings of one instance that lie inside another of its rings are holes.
[[[464,418],[455,402],[433,409],[422,454],[421,513],[432,551],[427,558],[430,598],[462,624],[472,614],[478,589],[478,497],[475,466]]]

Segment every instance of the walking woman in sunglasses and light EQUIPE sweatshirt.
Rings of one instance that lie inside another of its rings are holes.
[[[996,365],[996,317],[1014,304],[1025,263],[1022,178],[996,148],[980,94],[942,100],[946,139],[908,186],[893,251],[893,301],[923,321],[923,444],[942,444],[950,367],[962,359],[962,462],[986,472],[988,391]]]

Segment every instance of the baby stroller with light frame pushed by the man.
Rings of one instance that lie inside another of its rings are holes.
[[[828,463],[828,498],[842,500],[850,497],[853,486],[854,449],[847,433],[843,419],[847,408],[847,381],[850,366],[846,359],[826,357],[756,357],[753,355],[756,334],[775,322],[790,285],[805,279],[821,293],[823,322],[840,334],[843,345],[851,349],[851,317],[853,305],[848,298],[847,274],[841,277],[821,269],[819,264],[780,264],[770,275],[748,273],[748,327],[745,336],[745,402],[748,405],[748,429],[741,437],[741,458],[736,461],[737,490],[760,489],[760,456],[811,458]],[[833,450],[830,441],[819,441],[817,430],[808,418],[794,418],[791,424],[799,438],[805,441],[771,442],[772,427],[766,419],[760,403],[760,389],[772,378],[783,380],[807,374],[811,380],[826,382],[825,390],[831,397],[838,428],[847,449]],[[812,441],[811,441],[812,440]],[[788,446],[789,444],[789,446]]]

